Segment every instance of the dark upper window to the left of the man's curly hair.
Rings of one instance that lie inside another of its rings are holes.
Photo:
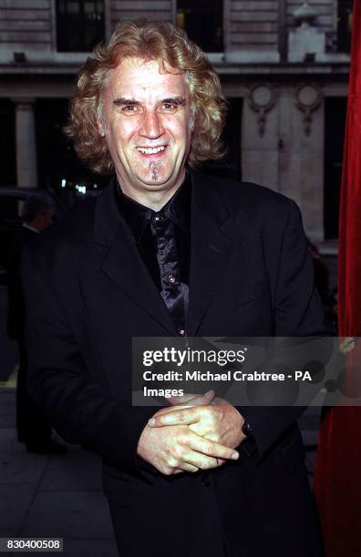
[[[57,0],[58,52],[89,52],[102,40],[103,0]]]

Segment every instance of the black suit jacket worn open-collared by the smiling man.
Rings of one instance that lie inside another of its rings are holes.
[[[294,202],[191,173],[190,336],[324,330]],[[123,218],[113,181],[46,230],[24,257],[31,392],[59,433],[103,458],[127,557],[319,554],[294,408],[240,409],[257,451],[202,474],[165,477],[136,455],[154,409],[131,408],[131,339],[177,330]],[[222,525],[222,526],[221,526]]]

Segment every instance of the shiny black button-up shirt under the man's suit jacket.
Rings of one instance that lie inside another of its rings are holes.
[[[190,284],[191,179],[185,178],[160,211],[127,197],[119,185],[118,192],[120,212],[136,240],[140,257],[180,335],[184,335]]]

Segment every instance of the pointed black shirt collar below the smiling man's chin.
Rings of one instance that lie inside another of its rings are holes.
[[[117,181],[117,199],[121,215],[127,222],[137,242],[141,239],[147,224],[157,214],[163,215],[180,227],[184,232],[191,230],[191,177],[188,170],[183,183],[175,194],[170,197],[168,203],[160,209],[153,211],[149,207],[141,205],[131,197],[126,196]]]

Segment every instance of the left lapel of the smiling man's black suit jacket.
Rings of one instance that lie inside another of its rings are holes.
[[[139,256],[136,242],[120,215],[116,187],[117,183],[112,180],[97,199],[94,240],[102,253],[101,270],[150,317],[159,321],[170,335],[177,334],[160,293]]]

